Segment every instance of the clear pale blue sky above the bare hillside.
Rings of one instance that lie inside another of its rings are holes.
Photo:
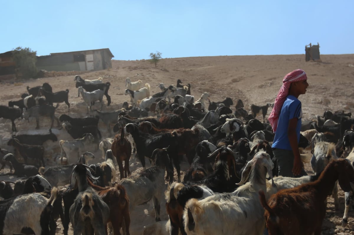
[[[0,53],[109,48],[115,60],[354,54],[353,0],[0,1]]]

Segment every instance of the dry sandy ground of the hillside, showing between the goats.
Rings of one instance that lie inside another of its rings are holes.
[[[104,82],[110,82],[109,95],[112,104],[104,107],[104,111],[119,109],[129,97],[124,95],[125,78],[130,77],[132,81],[141,79],[143,83],[151,85],[151,94],[159,92],[156,86],[159,83],[165,85],[175,84],[181,79],[183,84],[190,83],[192,95],[195,100],[202,92],[209,92],[211,101],[221,101],[225,97],[231,97],[235,102],[242,99],[245,108],[250,110],[249,104],[259,106],[273,103],[276,94],[281,86],[284,75],[297,68],[302,68],[308,76],[309,88],[307,94],[299,97],[302,101],[304,120],[310,120],[315,115],[322,115],[325,110],[354,111],[354,92],[352,83],[354,78],[354,55],[321,55],[320,62],[306,62],[305,55],[268,55],[268,56],[215,56],[215,57],[193,57],[193,58],[170,58],[161,59],[158,66],[154,67],[146,60],[137,61],[112,61],[112,69],[95,72],[81,73],[84,79],[97,79],[103,77]],[[62,73],[67,76],[47,77],[31,79],[28,81],[12,80],[1,82],[0,104],[7,105],[8,101],[19,100],[21,94],[26,91],[26,86],[42,85],[48,82],[53,91],[69,89],[69,102],[71,112],[69,115],[82,117],[86,115],[86,107],[82,98],[77,97],[77,89],[73,81],[75,73]],[[104,98],[107,104],[107,101]],[[97,106],[98,107],[98,106]],[[234,107],[233,107],[234,110]],[[270,110],[268,111],[269,115]],[[67,113],[67,106],[62,103],[56,111],[56,116]],[[257,117],[261,120],[261,117]],[[34,130],[35,120],[28,123],[24,120],[16,120],[18,133],[47,133],[50,120],[40,121],[41,128]],[[103,138],[108,137],[106,127],[102,122],[99,129]],[[72,139],[63,130],[53,128],[58,139]],[[0,119],[0,147],[12,150],[7,146],[7,140],[11,137],[11,121]],[[48,141],[47,141],[48,142]],[[48,165],[55,165],[53,158],[60,154],[59,144],[45,143]],[[91,150],[93,151],[93,150]],[[99,162],[102,159],[100,152],[94,152],[96,158],[92,162]],[[130,162],[131,170],[140,169],[141,164],[135,158]],[[182,164],[182,170],[188,168],[187,163]],[[306,164],[309,174],[312,170]],[[1,172],[1,174],[8,171]],[[119,177],[119,176],[118,176]],[[175,176],[176,178],[176,176]],[[0,176],[0,179],[18,180],[13,176]],[[118,179],[118,178],[117,178]],[[353,210],[349,213],[349,225],[341,228],[341,218],[344,211],[344,193],[339,189],[341,206],[338,211],[334,210],[333,199],[329,198],[327,215],[323,224],[323,234],[354,234]],[[161,202],[161,219],[167,219],[164,210],[165,201]],[[138,206],[131,212],[131,234],[142,234],[144,225],[154,222],[152,203]],[[61,227],[61,223],[59,223]],[[57,231],[61,234],[61,231]],[[72,234],[72,230],[69,231]]]

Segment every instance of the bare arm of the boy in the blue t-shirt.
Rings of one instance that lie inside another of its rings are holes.
[[[294,175],[300,174],[303,167],[303,163],[301,162],[299,147],[297,143],[297,134],[296,134],[297,121],[298,121],[297,118],[290,119],[289,127],[288,127],[288,138],[289,138],[292,152],[294,154],[294,164],[292,168],[292,173]]]

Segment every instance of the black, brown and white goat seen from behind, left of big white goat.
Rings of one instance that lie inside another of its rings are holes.
[[[191,198],[198,200],[213,195],[213,191],[205,185],[196,185],[194,183],[173,182],[168,185],[165,191],[166,212],[169,215],[169,234],[185,234],[183,224],[183,209],[185,203]]]

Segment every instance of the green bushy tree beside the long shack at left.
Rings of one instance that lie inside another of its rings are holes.
[[[13,50],[13,60],[16,63],[16,73],[25,79],[34,78],[37,75],[37,52],[30,48],[17,47]]]

